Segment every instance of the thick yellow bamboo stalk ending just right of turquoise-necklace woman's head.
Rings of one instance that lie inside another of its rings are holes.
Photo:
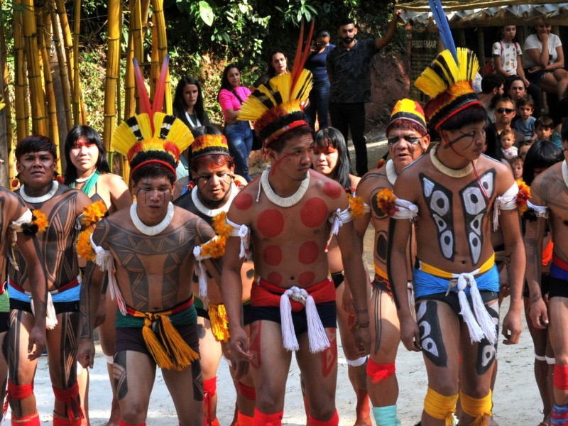
[[[104,128],[102,140],[107,152],[111,151],[111,139],[116,121],[116,80],[119,78],[120,56],[120,0],[109,0],[109,35],[107,49],[107,77],[104,90]]]

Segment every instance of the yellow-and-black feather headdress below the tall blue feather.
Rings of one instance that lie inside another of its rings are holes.
[[[430,97],[424,111],[432,129],[473,104],[481,106],[472,82],[479,70],[476,55],[466,48],[457,49],[457,62],[444,50],[418,77],[414,85]]]

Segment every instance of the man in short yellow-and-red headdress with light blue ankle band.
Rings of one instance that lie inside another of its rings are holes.
[[[386,135],[391,159],[383,167],[368,172],[359,182],[357,196],[363,199],[368,208],[364,217],[355,221],[361,247],[369,222],[375,229],[375,278],[371,283],[373,296],[368,308],[371,313],[371,354],[367,361],[367,388],[377,426],[396,424],[398,381],[395,358],[400,342],[400,324],[386,273],[389,218],[378,207],[378,194],[386,189],[392,190],[403,168],[420,158],[430,145],[426,119],[420,104],[410,99],[398,101],[391,114]],[[414,254],[415,248],[412,247],[412,250]],[[410,261],[412,259],[413,256]],[[409,281],[412,280],[410,268],[407,277]]]

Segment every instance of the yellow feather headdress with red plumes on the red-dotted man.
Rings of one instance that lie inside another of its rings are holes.
[[[292,72],[273,77],[249,95],[239,111],[239,120],[254,121],[254,129],[260,133],[266,148],[287,131],[308,125],[302,102],[312,90],[312,73],[304,69],[314,22],[302,55],[304,23],[300,28],[300,40]]]

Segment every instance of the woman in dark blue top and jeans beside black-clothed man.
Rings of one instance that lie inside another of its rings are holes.
[[[329,79],[325,69],[327,54],[335,48],[329,44],[329,31],[320,30],[317,33],[315,45],[310,47],[310,58],[307,58],[305,68],[312,72],[312,92],[310,92],[310,105],[306,108],[307,122],[312,131],[315,131],[315,117],[320,123],[320,129],[326,129],[329,124],[327,121],[327,104],[329,102]]]

